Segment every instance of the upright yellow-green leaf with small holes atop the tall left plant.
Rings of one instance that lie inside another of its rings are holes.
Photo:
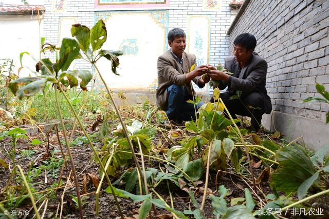
[[[99,50],[105,43],[107,31],[105,23],[100,19],[95,26],[90,30],[90,42],[92,43],[93,51]]]

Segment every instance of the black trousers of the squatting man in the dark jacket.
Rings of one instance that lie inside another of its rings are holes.
[[[236,118],[236,115],[250,117],[252,128],[254,130],[258,130],[262,122],[262,115],[264,114],[263,96],[257,92],[252,92],[249,94],[242,93],[240,99],[230,99],[231,96],[232,94],[228,92],[222,92],[220,94],[220,97],[222,98],[231,116],[233,118]],[[213,102],[213,98],[211,101]]]

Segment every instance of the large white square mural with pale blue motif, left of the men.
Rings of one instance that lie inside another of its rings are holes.
[[[102,18],[106,24],[103,49],[124,52],[119,57],[120,76],[111,72],[111,63],[105,58],[99,60],[107,85],[113,90],[154,91],[157,58],[167,49],[168,11],[96,12],[95,16],[95,22]],[[98,87],[102,88],[102,83]]]

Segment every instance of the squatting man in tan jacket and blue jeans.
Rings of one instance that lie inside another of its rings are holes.
[[[184,52],[186,34],[182,29],[174,28],[168,33],[170,50],[158,57],[158,89],[156,90],[157,105],[166,111],[170,120],[175,122],[189,121],[195,118],[193,99],[195,91],[191,87],[193,81],[199,88],[209,82],[209,77],[201,77],[207,73],[208,66],[190,68],[195,64],[195,55]],[[196,110],[203,103],[199,103]]]

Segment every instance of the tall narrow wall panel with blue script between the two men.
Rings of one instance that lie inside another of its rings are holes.
[[[196,65],[209,63],[209,45],[210,45],[210,17],[207,15],[189,16],[188,23],[188,51],[195,54]],[[209,87],[206,85],[200,89],[193,84],[197,93],[208,93]]]

